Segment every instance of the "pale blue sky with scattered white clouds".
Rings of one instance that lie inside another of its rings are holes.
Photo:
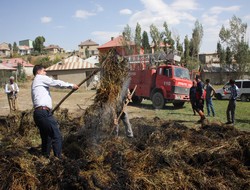
[[[65,50],[78,49],[88,39],[102,45],[136,23],[149,34],[154,24],[160,31],[166,21],[173,37],[191,38],[198,20],[204,30],[201,53],[215,52],[222,25],[233,15],[248,24],[250,39],[250,2],[248,0],[2,0],[0,4],[0,43],[34,40],[44,36],[45,45]]]

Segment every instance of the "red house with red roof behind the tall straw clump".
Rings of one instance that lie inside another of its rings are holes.
[[[127,46],[130,46],[130,52],[127,52]],[[107,43],[101,45],[98,47],[99,53],[100,54],[105,54],[107,53],[111,48],[115,48],[117,50],[117,52],[120,55],[126,56],[126,55],[134,55],[134,54],[139,54],[136,50],[136,46],[135,43],[130,41],[130,42],[126,42],[124,40],[123,36],[118,36],[116,38],[111,37],[111,40],[108,41]]]

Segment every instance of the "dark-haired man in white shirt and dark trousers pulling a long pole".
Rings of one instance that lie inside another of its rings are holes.
[[[54,156],[61,158],[62,136],[58,123],[51,112],[50,87],[78,89],[78,86],[61,80],[53,80],[46,76],[46,70],[42,65],[35,65],[33,74],[35,76],[31,85],[31,97],[34,107],[33,118],[40,131],[42,154],[49,158],[52,147]]]

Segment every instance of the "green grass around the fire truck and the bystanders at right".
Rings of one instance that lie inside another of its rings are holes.
[[[215,109],[215,117],[207,117],[209,122],[226,123],[226,110],[228,100],[213,100]],[[153,109],[152,103],[149,100],[144,100],[140,108]],[[204,107],[205,115],[207,115],[206,106]],[[186,103],[183,108],[175,109],[172,104],[166,104],[162,110],[155,110],[152,117],[159,117],[162,119],[169,119],[181,122],[189,127],[196,127],[200,124],[197,123],[199,116],[193,115],[190,103]],[[250,102],[237,101],[236,114],[235,114],[235,127],[239,130],[250,132]]]

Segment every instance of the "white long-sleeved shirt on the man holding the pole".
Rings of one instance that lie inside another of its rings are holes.
[[[37,74],[31,85],[31,97],[34,108],[47,106],[52,109],[52,99],[49,87],[73,88],[73,84],[61,80],[54,80],[46,75]]]

